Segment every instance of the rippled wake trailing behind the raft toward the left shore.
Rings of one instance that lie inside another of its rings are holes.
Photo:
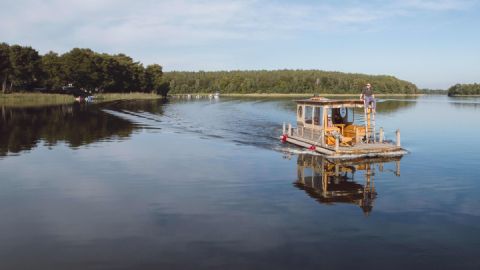
[[[280,142],[282,117],[269,108],[274,106],[278,110],[275,101],[199,101],[162,106],[161,113],[135,110],[131,104],[128,109],[116,104],[103,111],[128,120],[140,129],[196,134],[203,139],[227,140],[291,154],[308,152]]]

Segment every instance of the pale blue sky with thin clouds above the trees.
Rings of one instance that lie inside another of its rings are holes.
[[[320,69],[480,83],[480,0],[2,0],[0,42],[165,71]]]

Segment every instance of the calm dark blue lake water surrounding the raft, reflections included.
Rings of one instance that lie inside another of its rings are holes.
[[[480,269],[480,98],[382,99],[410,153],[340,165],[291,99],[0,115],[0,269]]]

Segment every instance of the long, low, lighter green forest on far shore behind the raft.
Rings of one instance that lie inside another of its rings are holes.
[[[416,94],[415,84],[393,76],[321,70],[165,72],[172,94],[333,93],[358,94],[367,82],[375,93]]]

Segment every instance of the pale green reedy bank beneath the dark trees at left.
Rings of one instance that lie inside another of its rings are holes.
[[[109,93],[95,95],[95,102],[158,98],[161,98],[161,96],[151,93]],[[75,98],[71,95],[41,93],[0,94],[0,106],[5,107],[37,107],[70,104],[73,102],[75,102]]]

